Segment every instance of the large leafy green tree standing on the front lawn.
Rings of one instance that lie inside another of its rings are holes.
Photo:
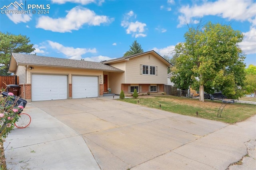
[[[172,82],[180,89],[200,92],[222,91],[228,98],[243,95],[245,56],[238,46],[244,35],[231,26],[212,24],[190,27],[184,35],[185,42],[175,46],[176,67]]]

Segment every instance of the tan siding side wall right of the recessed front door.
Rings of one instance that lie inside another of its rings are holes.
[[[109,73],[109,88],[111,93],[120,94],[121,84],[124,83],[124,73]]]

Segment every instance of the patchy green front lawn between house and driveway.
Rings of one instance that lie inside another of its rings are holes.
[[[236,123],[243,121],[252,115],[256,115],[256,105],[234,103],[228,104],[223,109],[221,117],[217,117],[218,109],[222,105],[221,101],[199,102],[198,99],[189,99],[185,97],[175,97],[169,95],[139,97],[138,99],[118,99],[128,103],[143,105],[146,107],[161,109],[181,115],[188,115],[203,119],[221,121],[224,123]]]

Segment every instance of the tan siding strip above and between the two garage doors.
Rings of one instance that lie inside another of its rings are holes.
[[[32,70],[28,70],[28,83],[31,83],[31,74],[60,74],[68,75],[68,83],[72,84],[72,75],[92,75],[103,76],[103,71],[98,70],[86,70],[86,69],[68,69],[59,67],[33,67]]]

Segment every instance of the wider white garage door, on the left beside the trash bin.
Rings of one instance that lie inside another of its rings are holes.
[[[32,74],[32,101],[67,99],[68,76]]]

